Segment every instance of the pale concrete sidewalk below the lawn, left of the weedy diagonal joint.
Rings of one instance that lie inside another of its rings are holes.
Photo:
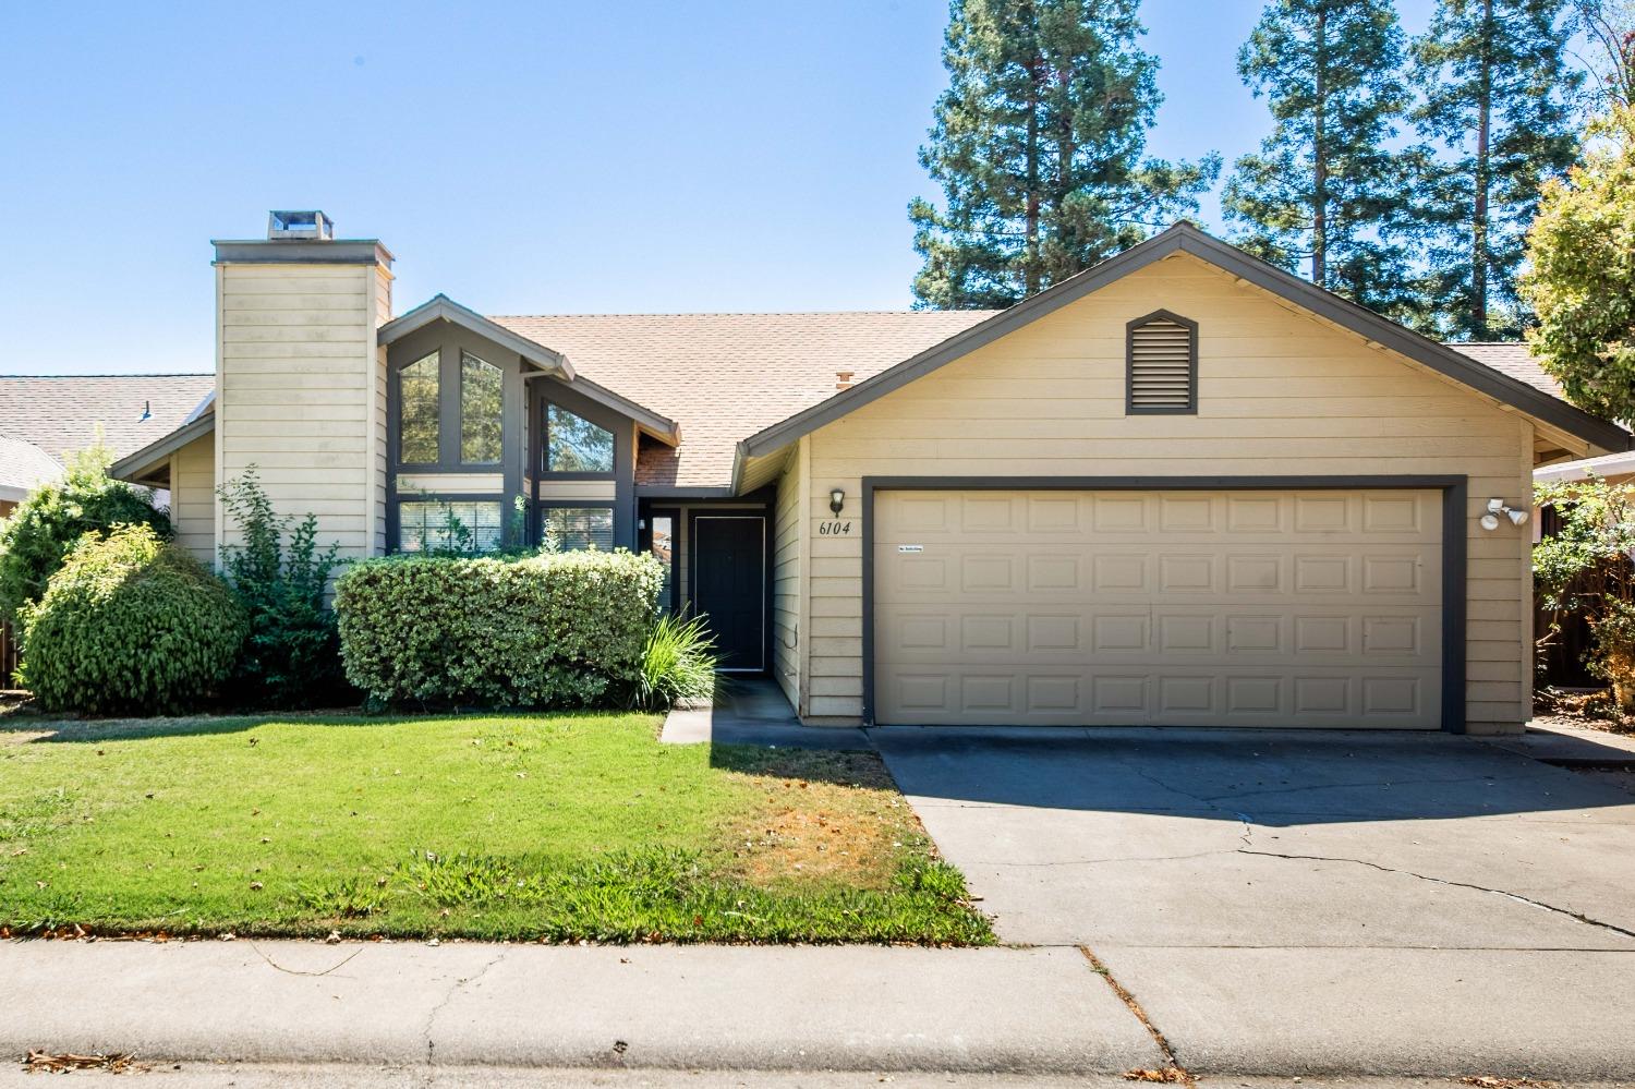
[[[1074,948],[8,942],[0,1009],[0,1053],[13,1056],[1015,1074],[1162,1064]]]

